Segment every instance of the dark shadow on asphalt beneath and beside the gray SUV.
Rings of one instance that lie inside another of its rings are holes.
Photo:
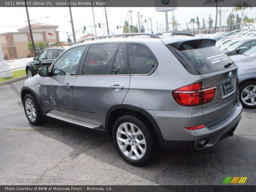
[[[220,185],[228,176],[246,176],[250,177],[247,184],[256,183],[256,141],[243,136],[234,135],[203,150],[159,151],[149,164],[136,167],[126,163],[112,140],[98,132],[54,119],[48,119],[39,129],[31,127],[73,148],[60,163],[74,161],[83,154],[89,156],[92,162],[80,162],[80,169],[95,162],[109,164],[159,185]]]

